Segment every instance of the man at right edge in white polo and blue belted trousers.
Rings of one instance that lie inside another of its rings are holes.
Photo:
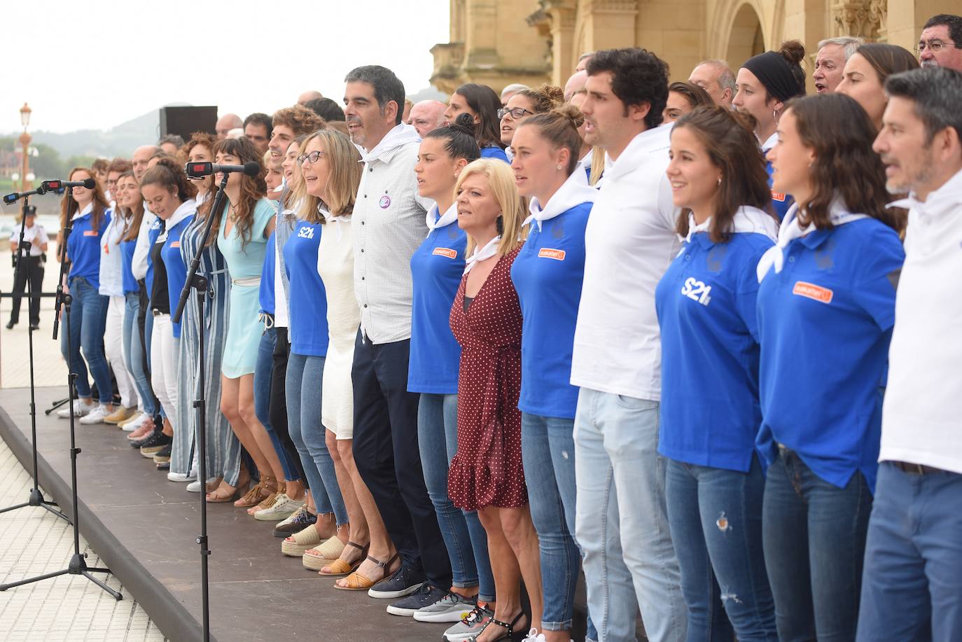
[[[908,207],[858,639],[962,634],[962,73],[890,76],[873,144]]]

